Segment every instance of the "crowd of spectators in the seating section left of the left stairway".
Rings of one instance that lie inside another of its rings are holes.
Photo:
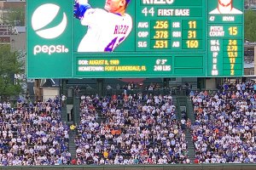
[[[61,122],[61,99],[0,103],[0,166],[68,165],[69,127]]]

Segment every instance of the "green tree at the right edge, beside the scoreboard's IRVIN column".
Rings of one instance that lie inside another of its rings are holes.
[[[247,10],[244,15],[244,37],[250,42],[256,42],[256,12]]]

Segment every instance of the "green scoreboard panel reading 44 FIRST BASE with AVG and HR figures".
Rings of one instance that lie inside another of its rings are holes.
[[[204,50],[205,4],[191,1],[137,1],[137,51]],[[140,12],[138,12],[140,11]]]

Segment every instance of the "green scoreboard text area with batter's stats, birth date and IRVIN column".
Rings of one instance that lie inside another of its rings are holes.
[[[127,41],[135,47],[124,53],[129,48],[122,48],[120,44],[117,51],[109,54],[111,56],[78,57],[78,77],[90,77],[91,71],[93,77],[243,75],[242,14],[209,14],[218,8],[218,0],[131,2],[129,14],[133,18],[135,38]],[[230,2],[243,11],[241,0]],[[93,64],[99,61],[102,65]]]

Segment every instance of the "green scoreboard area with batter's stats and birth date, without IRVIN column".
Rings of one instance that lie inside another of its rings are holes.
[[[131,14],[134,34],[112,54],[76,58],[77,76],[90,77],[92,70],[94,77],[208,76],[206,5],[203,0],[131,1],[127,14]],[[93,65],[100,60],[102,65]]]

